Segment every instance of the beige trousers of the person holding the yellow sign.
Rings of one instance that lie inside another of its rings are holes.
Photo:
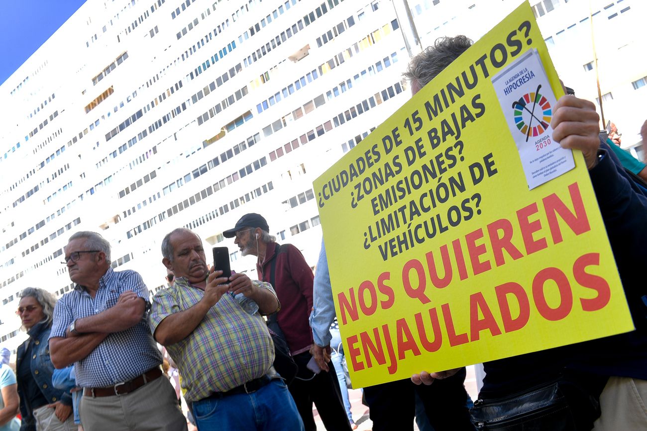
[[[647,430],[647,380],[609,377],[593,431]]]

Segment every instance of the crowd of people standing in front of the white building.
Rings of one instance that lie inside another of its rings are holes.
[[[439,39],[415,57],[406,73],[412,93],[471,44]],[[584,154],[636,330],[485,363],[474,405],[465,368],[369,386],[373,430],[413,430],[415,416],[437,431],[647,429],[647,189],[609,147],[614,136],[600,138],[598,121],[593,103],[564,96],[553,138]],[[75,288],[58,302],[41,288],[21,293],[28,339],[16,373],[1,352],[0,431],[17,429],[18,408],[19,429],[32,431],[182,431],[192,423],[200,431],[314,431],[313,405],[327,430],[356,429],[323,242],[313,274],[296,247],[269,231],[250,213],[223,233],[258,258],[256,280],[210,266],[190,229],[170,231],[161,247],[169,287],[152,298],[136,271],[111,268],[105,238],[74,233],[65,262]]]

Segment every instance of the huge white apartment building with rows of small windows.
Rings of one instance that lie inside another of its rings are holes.
[[[559,30],[575,17],[584,27],[588,3],[534,8],[564,81],[593,100],[591,83],[569,75],[576,65],[589,78],[592,54]],[[517,5],[404,7],[426,46],[444,35],[477,39]],[[639,0],[600,10],[600,28],[645,16]],[[73,288],[61,262],[75,231],[102,233],[113,268],[135,269],[151,293],[166,286],[160,244],[175,227],[228,246],[232,268],[256,277],[255,258],[221,235],[249,212],[314,266],[313,180],[409,98],[399,19],[389,0],[88,0],[0,86],[0,344],[14,350],[25,339],[14,314],[21,289]],[[622,55],[644,37],[618,36]],[[602,70],[613,56],[597,48]],[[639,60],[608,78],[618,109],[644,92]],[[638,90],[625,89],[632,82]],[[622,131],[620,114],[613,120]]]

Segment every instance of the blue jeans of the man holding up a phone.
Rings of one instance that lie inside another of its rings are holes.
[[[205,398],[193,402],[199,431],[303,431],[303,422],[287,386],[272,380],[252,394]]]

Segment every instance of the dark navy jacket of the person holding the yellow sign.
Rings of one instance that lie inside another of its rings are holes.
[[[502,397],[558,379],[564,367],[603,377],[595,382],[599,386],[595,390],[602,390],[610,376],[647,380],[647,194],[603,140],[598,156],[589,176],[636,330],[487,362],[481,390],[486,397]],[[585,374],[584,381],[593,378]]]

